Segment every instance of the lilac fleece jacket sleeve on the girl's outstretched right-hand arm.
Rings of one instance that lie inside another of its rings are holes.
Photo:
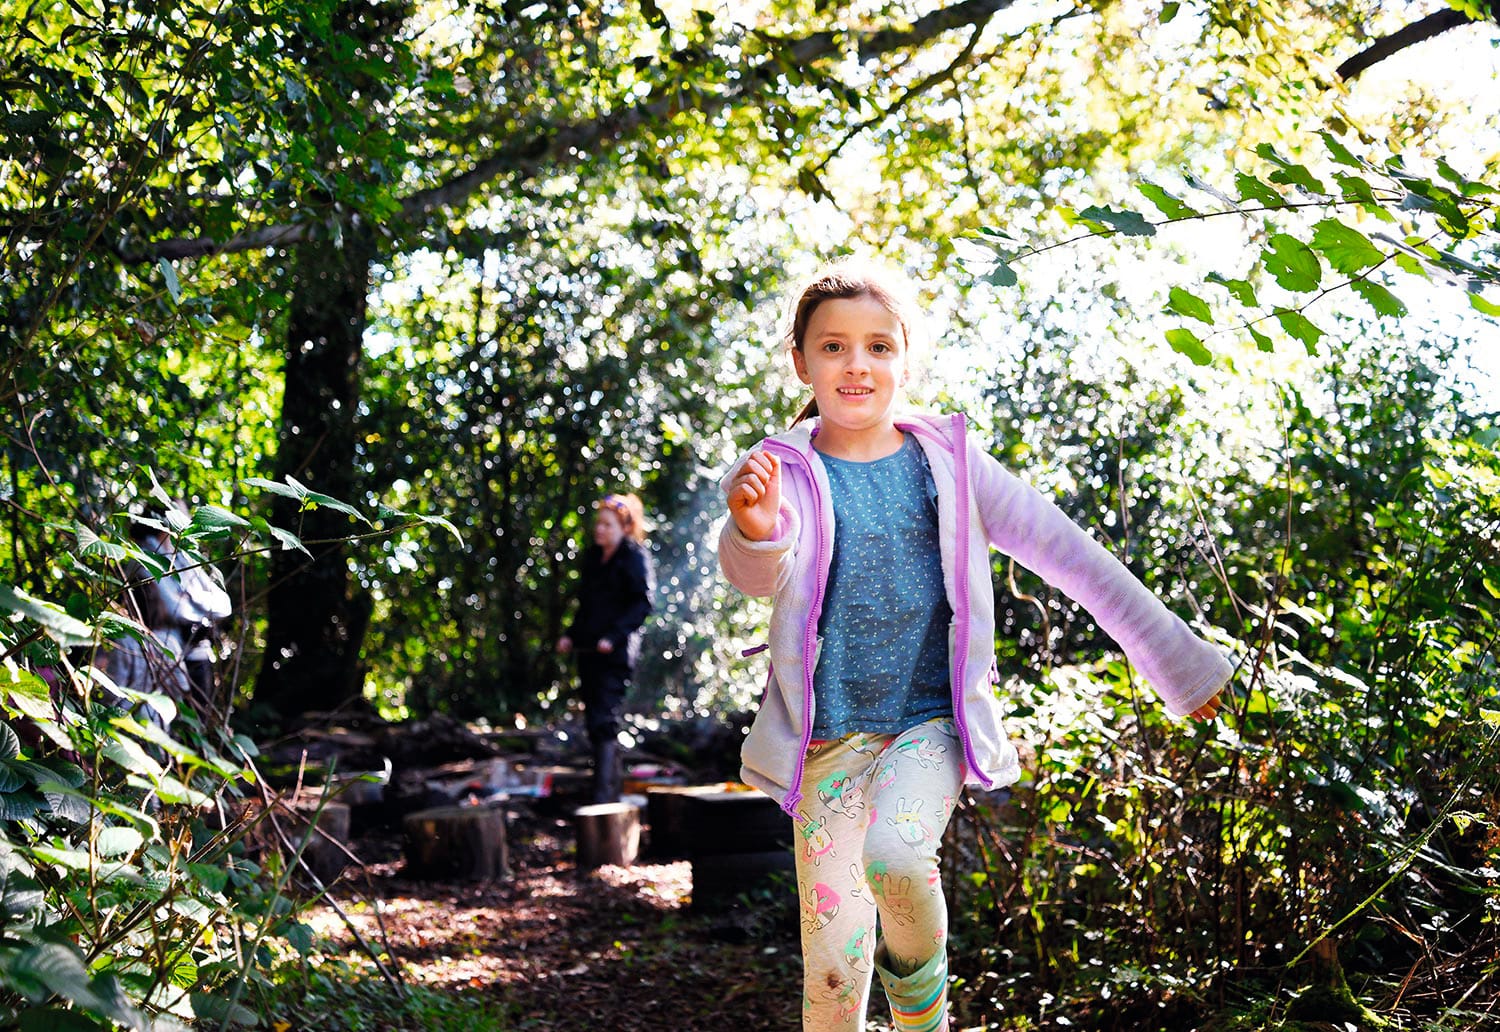
[[[1233,668],[1125,564],[987,452],[969,448],[975,500],[994,548],[1074,598],[1182,717],[1212,699]]]

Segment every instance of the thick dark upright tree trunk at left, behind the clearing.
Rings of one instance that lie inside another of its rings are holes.
[[[342,243],[310,240],[292,258],[286,322],[286,386],[282,396],[276,478],[294,477],[312,490],[358,502],[354,414],[363,348],[369,267],[375,249],[364,231],[346,228]],[[266,656],[255,700],[282,716],[336,710],[360,698],[360,644],[372,600],[351,596],[350,518],[328,507],[298,513],[278,498],[272,522],[294,531],[312,552],[272,558]]]

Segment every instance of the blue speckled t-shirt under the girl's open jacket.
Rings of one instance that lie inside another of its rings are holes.
[[[900,734],[952,716],[938,488],[908,434],[874,462],[820,456],[834,504],[813,738]]]

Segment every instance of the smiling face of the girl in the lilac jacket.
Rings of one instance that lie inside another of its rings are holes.
[[[813,388],[822,432],[888,434],[906,382],[902,321],[868,294],[822,302],[792,351],[796,375]]]

